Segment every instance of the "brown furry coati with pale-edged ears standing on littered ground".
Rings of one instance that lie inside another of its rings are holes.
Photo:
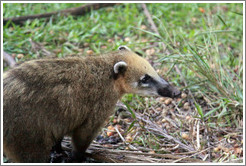
[[[48,162],[65,135],[81,156],[126,93],[180,91],[125,46],[90,57],[24,62],[3,77],[3,150],[13,162]]]

